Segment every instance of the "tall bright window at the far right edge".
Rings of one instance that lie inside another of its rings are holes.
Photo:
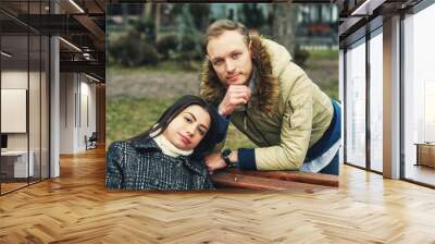
[[[435,4],[403,20],[405,178],[431,185],[435,185],[435,170],[420,164],[418,157],[424,155],[418,145],[435,142],[435,34],[428,30],[434,23]],[[435,160],[435,155],[430,157]]]

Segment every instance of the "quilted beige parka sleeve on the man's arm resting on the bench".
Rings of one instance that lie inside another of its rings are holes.
[[[279,78],[294,77],[291,87],[284,87],[285,111],[282,119],[281,142],[276,146],[254,149],[257,170],[298,170],[303,163],[310,143],[313,100],[311,81],[293,62]],[[279,81],[285,84],[285,81]]]

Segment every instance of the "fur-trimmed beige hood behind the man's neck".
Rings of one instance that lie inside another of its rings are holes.
[[[257,101],[259,110],[271,111],[277,103],[279,96],[278,74],[285,69],[285,64],[291,60],[288,51],[281,45],[251,36],[252,41],[252,63],[257,71]],[[200,95],[215,106],[222,101],[226,88],[220,82],[212,64],[208,59],[204,60],[201,73]]]

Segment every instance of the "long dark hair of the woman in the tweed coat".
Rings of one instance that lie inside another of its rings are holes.
[[[210,152],[214,145],[216,144],[216,137],[217,137],[217,123],[216,123],[216,117],[217,111],[215,108],[213,108],[211,105],[207,103],[202,98],[192,96],[192,95],[186,95],[178,100],[176,100],[171,107],[169,107],[163,114],[160,117],[160,119],[157,121],[157,123],[148,129],[147,131],[140,133],[139,135],[130,138],[130,141],[142,141],[142,139],[151,139],[152,137],[156,137],[160,134],[162,134],[167,125],[174,120],[175,117],[177,117],[183,110],[185,110],[187,107],[197,105],[203,108],[210,115],[210,126],[209,130],[207,131],[204,137],[201,139],[201,142],[198,144],[198,146],[194,149],[194,154],[191,157],[194,158],[201,158],[206,156],[208,152]],[[159,131],[160,130],[160,131]],[[159,133],[156,133],[159,131]],[[152,137],[151,137],[152,134]]]

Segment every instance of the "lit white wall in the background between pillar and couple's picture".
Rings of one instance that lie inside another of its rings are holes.
[[[85,135],[96,131],[96,85],[90,82],[83,74],[61,73],[61,154],[86,150]]]

